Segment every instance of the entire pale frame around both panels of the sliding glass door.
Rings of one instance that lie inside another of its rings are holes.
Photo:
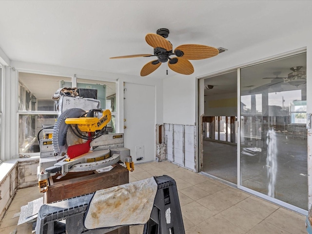
[[[202,113],[202,108],[203,108],[203,99],[204,99],[204,94],[203,94],[203,88],[204,88],[204,79],[206,78],[211,78],[217,75],[220,75],[222,73],[226,73],[229,71],[233,71],[233,70],[237,70],[237,184],[232,184],[232,186],[237,186],[238,189],[243,190],[245,192],[248,192],[252,195],[256,195],[258,197],[261,197],[265,200],[271,201],[277,205],[283,206],[285,208],[288,208],[290,210],[293,210],[295,212],[298,212],[300,214],[303,215],[308,215],[308,211],[301,209],[299,207],[293,206],[289,203],[286,203],[284,201],[278,200],[276,198],[270,197],[268,195],[264,195],[261,194],[259,192],[256,192],[252,189],[246,188],[244,186],[241,185],[241,165],[240,165],[240,152],[241,152],[241,115],[240,115],[240,95],[241,95],[241,82],[240,82],[240,69],[242,68],[246,68],[249,66],[253,66],[256,64],[260,64],[260,63],[264,63],[264,62],[268,62],[268,61],[273,61],[276,59],[281,59],[281,58],[285,58],[285,57],[289,57],[289,56],[293,56],[293,55],[297,55],[297,54],[301,54],[301,53],[307,53],[307,64],[310,64],[310,61],[312,61],[312,53],[308,53],[307,48],[303,47],[303,48],[299,48],[290,52],[286,52],[286,53],[282,53],[279,55],[275,55],[272,57],[268,57],[267,59],[259,59],[257,61],[253,61],[250,63],[245,63],[242,65],[238,65],[229,69],[224,69],[220,72],[215,72],[215,73],[211,73],[209,75],[203,75],[200,77],[196,78],[196,93],[197,93],[197,98],[196,98],[196,113],[197,113],[197,131],[198,131],[198,135],[197,135],[197,142],[198,142],[198,146],[197,146],[197,163],[195,164],[196,166],[196,172],[201,172],[202,170],[202,163],[203,163],[203,147],[202,147],[202,125],[201,123],[201,113]],[[311,54],[311,55],[310,55]],[[307,65],[307,77],[310,77],[310,74],[312,74],[312,66]],[[312,79],[308,78],[307,79],[307,90],[312,90]],[[307,123],[307,129],[308,129],[308,136],[307,136],[307,148],[308,148],[308,152],[307,152],[307,160],[308,160],[308,207],[309,209],[312,206],[312,92],[307,92],[307,118],[311,117],[311,120]],[[310,123],[310,126],[308,126]],[[205,174],[205,173],[203,173]],[[214,177],[214,176],[212,176]],[[218,178],[216,178],[218,179]],[[222,179],[220,179],[222,180]],[[227,181],[224,181],[227,182]],[[230,183],[229,183],[230,184]]]

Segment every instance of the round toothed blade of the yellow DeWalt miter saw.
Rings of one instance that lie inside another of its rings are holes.
[[[55,153],[64,155],[67,153],[69,145],[80,143],[81,139],[72,133],[69,125],[65,123],[66,118],[77,118],[85,115],[86,112],[79,108],[72,108],[64,111],[57,119],[52,136],[52,145]]]

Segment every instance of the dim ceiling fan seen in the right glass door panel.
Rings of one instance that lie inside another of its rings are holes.
[[[272,77],[272,78],[269,78],[269,77],[266,77],[266,78],[263,78],[263,79],[283,79],[282,81],[279,81],[279,82],[272,82],[272,84],[269,84],[267,86],[272,86],[274,84],[278,84],[278,83],[282,83],[282,82],[285,82],[285,83],[288,83],[288,84],[291,84],[291,85],[294,85],[296,87],[298,87],[299,85],[301,84],[305,84],[307,82],[307,75],[306,75],[306,72],[305,71],[301,71],[303,67],[302,66],[295,66],[295,67],[291,67],[290,69],[292,70],[292,72],[290,74],[288,74],[287,77],[278,77],[278,74],[276,74],[277,76],[276,77]]]

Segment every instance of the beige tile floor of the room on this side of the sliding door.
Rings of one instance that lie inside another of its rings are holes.
[[[137,164],[130,182],[168,175],[176,180],[186,234],[307,234],[305,216],[239,191],[168,161]],[[31,224],[17,226],[20,207],[40,197],[37,187],[18,190],[0,224],[1,234],[30,234]],[[142,226],[130,228],[142,234]]]

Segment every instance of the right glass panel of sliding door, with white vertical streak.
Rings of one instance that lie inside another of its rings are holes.
[[[308,210],[306,53],[241,69],[240,184]]]

